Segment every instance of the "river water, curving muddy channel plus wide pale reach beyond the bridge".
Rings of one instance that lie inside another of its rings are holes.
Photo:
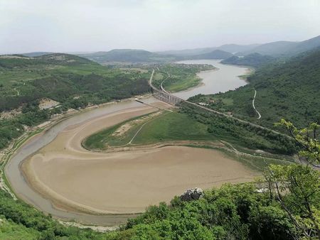
[[[245,84],[245,81],[240,80],[240,78],[238,77],[238,75],[245,74],[246,68],[244,67],[222,65],[219,63],[219,60],[188,60],[181,63],[211,64],[215,67],[218,67],[218,70],[205,71],[198,74],[199,77],[203,78],[203,84],[200,87],[175,93],[176,96],[183,99],[188,99],[188,97],[192,97],[193,95],[200,93],[212,94],[217,92],[225,92]],[[143,101],[151,103],[157,100],[153,97],[149,97],[144,98]],[[23,146],[21,146],[16,151],[5,168],[6,178],[9,180],[11,187],[16,195],[29,204],[32,204],[37,209],[40,209],[41,211],[48,214],[52,214],[54,217],[68,220],[75,219],[76,221],[82,222],[84,224],[114,226],[124,223],[128,219],[128,217],[134,217],[133,215],[129,214],[92,215],[56,209],[55,207],[53,207],[50,200],[40,195],[28,185],[26,180],[23,178],[23,175],[21,174],[19,166],[24,159],[28,158],[28,156],[36,153],[36,151],[43,148],[43,146],[46,146],[48,143],[53,141],[53,139],[58,136],[58,133],[60,133],[60,131],[63,131],[63,129],[65,129],[66,127],[80,124],[83,121],[90,121],[90,119],[94,119],[97,116],[110,114],[122,109],[139,107],[140,105],[141,104],[139,102],[135,102],[134,100],[127,100],[123,102],[117,102],[115,104],[108,104],[107,106],[99,107],[97,109],[80,111],[78,114],[60,121],[50,129],[24,143]]]

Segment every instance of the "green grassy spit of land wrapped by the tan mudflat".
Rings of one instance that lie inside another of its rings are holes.
[[[183,122],[183,124],[181,124]],[[177,111],[161,112],[160,115],[148,114],[138,118],[124,121],[85,139],[85,148],[106,149],[108,146],[124,146],[132,140],[133,136],[144,124],[132,145],[144,145],[161,143],[165,141],[215,141],[217,138],[210,134],[205,124],[191,119],[186,114]],[[121,136],[114,134],[122,126],[128,126],[129,130]]]

